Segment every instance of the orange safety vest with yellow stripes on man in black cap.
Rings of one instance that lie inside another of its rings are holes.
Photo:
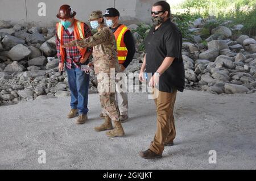
[[[125,32],[128,30],[129,28],[122,24],[114,32],[115,40],[117,41],[117,57],[119,64],[123,64],[123,62],[125,62],[126,56],[128,54],[125,42],[123,41],[123,36],[125,35]]]

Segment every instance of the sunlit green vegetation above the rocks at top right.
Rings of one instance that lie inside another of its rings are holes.
[[[241,31],[234,32],[234,36],[246,34],[256,35],[256,0],[187,0],[176,9],[185,9],[186,12],[174,15],[174,22],[183,33],[183,37],[189,34],[189,23],[197,18],[215,17],[207,21],[201,30],[201,36],[207,38],[213,28],[220,26],[228,20],[231,23],[225,24],[232,28],[236,24],[242,24]]]

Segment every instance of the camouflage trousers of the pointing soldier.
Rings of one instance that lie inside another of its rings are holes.
[[[119,121],[120,113],[115,102],[115,79],[111,83],[110,74],[100,73],[97,75],[97,82],[102,110],[112,121]],[[112,86],[112,89],[110,86]]]

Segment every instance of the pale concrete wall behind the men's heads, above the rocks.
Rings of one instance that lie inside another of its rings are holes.
[[[39,16],[40,2],[46,4],[46,16]],[[71,5],[77,12],[77,19],[87,22],[93,10],[105,12],[108,7],[115,7],[120,11],[121,21],[130,23],[150,23],[150,10],[155,0],[0,0],[0,19],[13,23],[36,26],[53,26],[58,19],[56,14],[63,4]]]

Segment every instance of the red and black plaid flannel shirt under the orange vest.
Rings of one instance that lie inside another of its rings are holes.
[[[85,24],[84,26],[84,32],[85,37],[92,36],[92,32],[90,31],[90,28],[88,25]],[[74,31],[72,33],[69,33],[68,30],[63,31],[63,43],[69,43],[69,41],[75,40],[75,34]],[[60,55],[60,40],[57,36],[57,30],[56,30],[56,49],[57,49],[57,57],[59,58],[59,61],[61,61],[61,55]],[[80,68],[80,58],[81,54],[79,52],[79,49],[77,47],[68,47],[65,48],[66,57],[65,57],[65,65],[67,68],[71,69],[72,63],[76,66],[76,68]],[[87,48],[86,53],[92,53],[92,48]]]

